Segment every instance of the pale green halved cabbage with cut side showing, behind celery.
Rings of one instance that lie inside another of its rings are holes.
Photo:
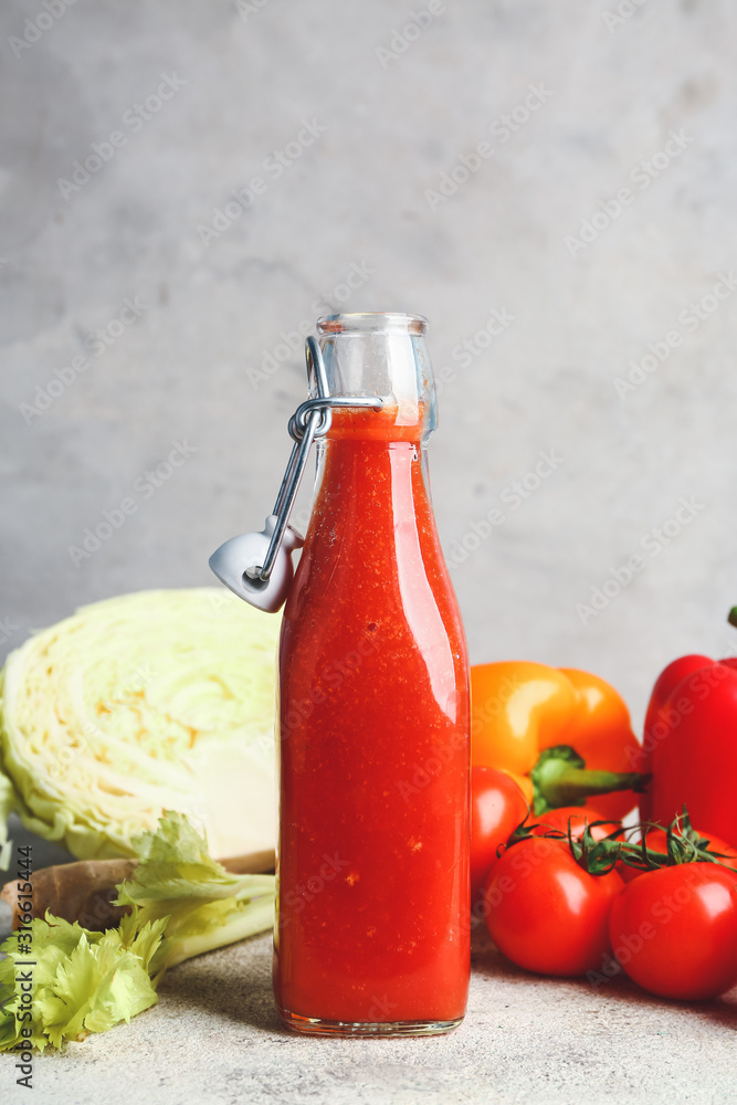
[[[165,809],[219,859],[272,849],[278,629],[203,587],[107,599],[36,633],[0,677],[0,814],[83,860],[135,854]]]

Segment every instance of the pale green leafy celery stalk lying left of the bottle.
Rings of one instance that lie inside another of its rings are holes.
[[[183,815],[167,812],[134,846],[117,928],[46,914],[0,947],[0,1051],[61,1048],[129,1021],[157,1002],[169,967],[272,927],[274,876],[229,874]]]

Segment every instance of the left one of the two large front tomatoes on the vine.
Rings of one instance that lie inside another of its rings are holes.
[[[589,875],[566,841],[533,836],[509,848],[484,887],[486,927],[499,951],[540,975],[601,968],[609,911],[621,891],[615,871]]]

